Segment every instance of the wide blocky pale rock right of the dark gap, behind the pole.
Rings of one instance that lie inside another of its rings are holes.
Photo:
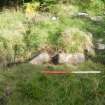
[[[59,54],[59,63],[60,64],[79,64],[85,61],[85,55],[82,53],[75,54]]]

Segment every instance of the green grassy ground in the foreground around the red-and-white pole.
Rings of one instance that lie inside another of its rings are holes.
[[[87,61],[50,70],[100,70],[101,74],[45,75],[46,66],[21,64],[0,70],[0,105],[104,105],[105,66]]]

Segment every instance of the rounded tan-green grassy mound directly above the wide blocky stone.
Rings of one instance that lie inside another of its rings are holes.
[[[68,53],[84,52],[84,49],[90,50],[93,48],[92,36],[78,28],[66,29],[61,34],[55,34],[52,37],[55,38],[55,41],[53,41],[55,44],[52,46],[55,45],[58,50]]]

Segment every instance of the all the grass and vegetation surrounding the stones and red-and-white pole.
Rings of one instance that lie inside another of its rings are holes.
[[[105,44],[105,0],[0,0],[0,8],[0,105],[105,104],[105,51],[91,50]],[[7,67],[43,51],[84,49],[94,56],[79,65]],[[102,73],[58,76],[46,69]]]

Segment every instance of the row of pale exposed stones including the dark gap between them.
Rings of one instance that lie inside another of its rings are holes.
[[[79,64],[85,61],[85,55],[83,53],[57,53],[51,57],[48,53],[41,53],[30,61],[31,64]]]

